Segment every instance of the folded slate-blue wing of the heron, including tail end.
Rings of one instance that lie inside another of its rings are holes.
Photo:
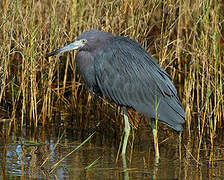
[[[169,75],[137,42],[114,38],[95,55],[94,68],[97,84],[109,100],[150,118],[157,113],[158,119],[170,127],[177,131],[182,128],[173,127],[185,118],[176,88]],[[165,116],[174,119],[167,120]]]

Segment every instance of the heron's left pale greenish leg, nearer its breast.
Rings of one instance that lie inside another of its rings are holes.
[[[122,146],[122,155],[125,155],[126,153],[126,147],[128,144],[128,137],[130,134],[130,124],[128,121],[128,113],[126,107],[123,107],[124,109],[124,140],[123,140],[123,146]]]

